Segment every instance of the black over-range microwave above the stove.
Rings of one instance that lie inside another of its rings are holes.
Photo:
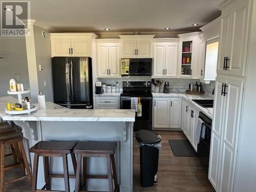
[[[152,75],[152,58],[121,59],[121,75]]]

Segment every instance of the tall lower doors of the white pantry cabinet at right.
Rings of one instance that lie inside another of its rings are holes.
[[[208,178],[216,191],[233,191],[243,81],[217,77]]]

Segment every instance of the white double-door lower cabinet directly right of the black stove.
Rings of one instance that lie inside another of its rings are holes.
[[[153,127],[180,129],[181,128],[181,98],[153,99]]]

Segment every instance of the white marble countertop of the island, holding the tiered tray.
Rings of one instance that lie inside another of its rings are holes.
[[[0,97],[0,117],[10,121],[121,121],[134,122],[135,110],[100,110],[100,109],[67,109],[53,102],[46,103],[46,109],[39,109],[26,115],[7,115],[7,103],[17,102],[17,99]],[[37,104],[34,104],[37,105]]]

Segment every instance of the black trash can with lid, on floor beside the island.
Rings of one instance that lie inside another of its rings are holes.
[[[136,132],[140,146],[140,181],[142,187],[150,187],[157,182],[159,147],[161,137],[152,131]]]

